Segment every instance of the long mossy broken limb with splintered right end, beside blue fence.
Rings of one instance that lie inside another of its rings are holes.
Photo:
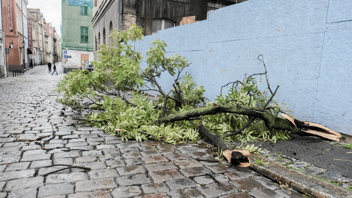
[[[233,104],[226,104],[226,103],[219,103],[219,104],[213,103],[213,106],[195,108],[188,111],[184,111],[182,113],[171,114],[166,117],[162,117],[158,120],[158,122],[159,123],[175,122],[180,120],[188,120],[192,117],[214,115],[214,114],[220,114],[220,113],[232,113],[232,114],[240,114],[240,115],[256,117],[258,119],[263,120],[265,123],[265,126],[270,129],[287,130],[293,134],[298,134],[303,136],[319,136],[319,137],[323,137],[323,138],[327,138],[335,141],[339,141],[339,138],[341,138],[341,135],[339,133],[334,131],[333,131],[334,133],[332,133],[332,132],[329,132],[328,130],[321,130],[321,132],[319,132],[319,130],[316,130],[317,133],[309,133],[310,132],[309,129],[307,130],[307,128],[304,128],[304,126],[307,126],[307,124],[306,125],[301,124],[300,126],[297,127],[288,119],[277,117],[276,115],[271,114],[269,111],[265,111],[263,109],[259,109],[255,107],[246,107],[240,104],[233,105]],[[312,125],[312,123],[310,125]],[[329,136],[322,135],[326,133],[329,133]]]

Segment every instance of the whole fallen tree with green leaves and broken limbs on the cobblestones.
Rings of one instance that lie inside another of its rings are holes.
[[[188,60],[177,54],[165,56],[164,41],[152,42],[142,69],[142,53],[132,45],[142,39],[142,32],[136,25],[127,32],[113,32],[109,37],[114,43],[100,45],[100,60],[93,62],[95,71],[76,70],[58,83],[56,91],[63,94],[58,101],[78,112],[87,111],[82,119],[85,123],[118,135],[121,141],[154,139],[177,144],[196,142],[205,136],[222,149],[224,156],[231,153],[228,160],[232,164],[241,166],[249,163],[247,153],[231,151],[224,140],[275,142],[288,140],[291,133],[336,141],[341,137],[325,126],[285,114],[282,104],[273,100],[279,86],[271,90],[262,55],[258,59],[265,72],[245,75],[242,81],[222,86],[216,102],[205,103],[205,89],[196,85],[190,74],[183,74],[190,65]],[[169,91],[158,83],[165,72],[175,77]],[[270,96],[266,90],[258,89],[258,75],[265,75]],[[227,89],[227,94],[222,95],[223,89]],[[144,94],[149,91],[158,93],[157,100]],[[127,92],[131,94],[128,96]]]

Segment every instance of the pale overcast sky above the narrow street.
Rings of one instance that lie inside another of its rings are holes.
[[[28,0],[27,8],[39,8],[46,23],[51,22],[52,27],[61,35],[61,0]]]

